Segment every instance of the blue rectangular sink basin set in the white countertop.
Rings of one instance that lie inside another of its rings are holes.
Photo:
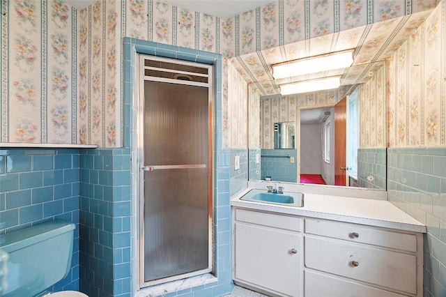
[[[285,194],[268,193],[267,190],[249,190],[240,200],[263,202],[268,204],[282,204],[286,206],[303,207],[304,195],[298,192],[286,192]]]

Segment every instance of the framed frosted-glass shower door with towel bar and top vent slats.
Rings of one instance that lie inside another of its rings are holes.
[[[213,68],[139,55],[140,285],[213,270]]]

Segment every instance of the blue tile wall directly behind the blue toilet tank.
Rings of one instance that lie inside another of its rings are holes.
[[[48,291],[79,289],[79,151],[0,148],[0,234],[54,219],[76,224],[68,276]]]

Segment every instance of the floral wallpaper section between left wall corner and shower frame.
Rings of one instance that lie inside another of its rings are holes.
[[[77,20],[78,143],[121,146],[121,1],[96,1]]]

